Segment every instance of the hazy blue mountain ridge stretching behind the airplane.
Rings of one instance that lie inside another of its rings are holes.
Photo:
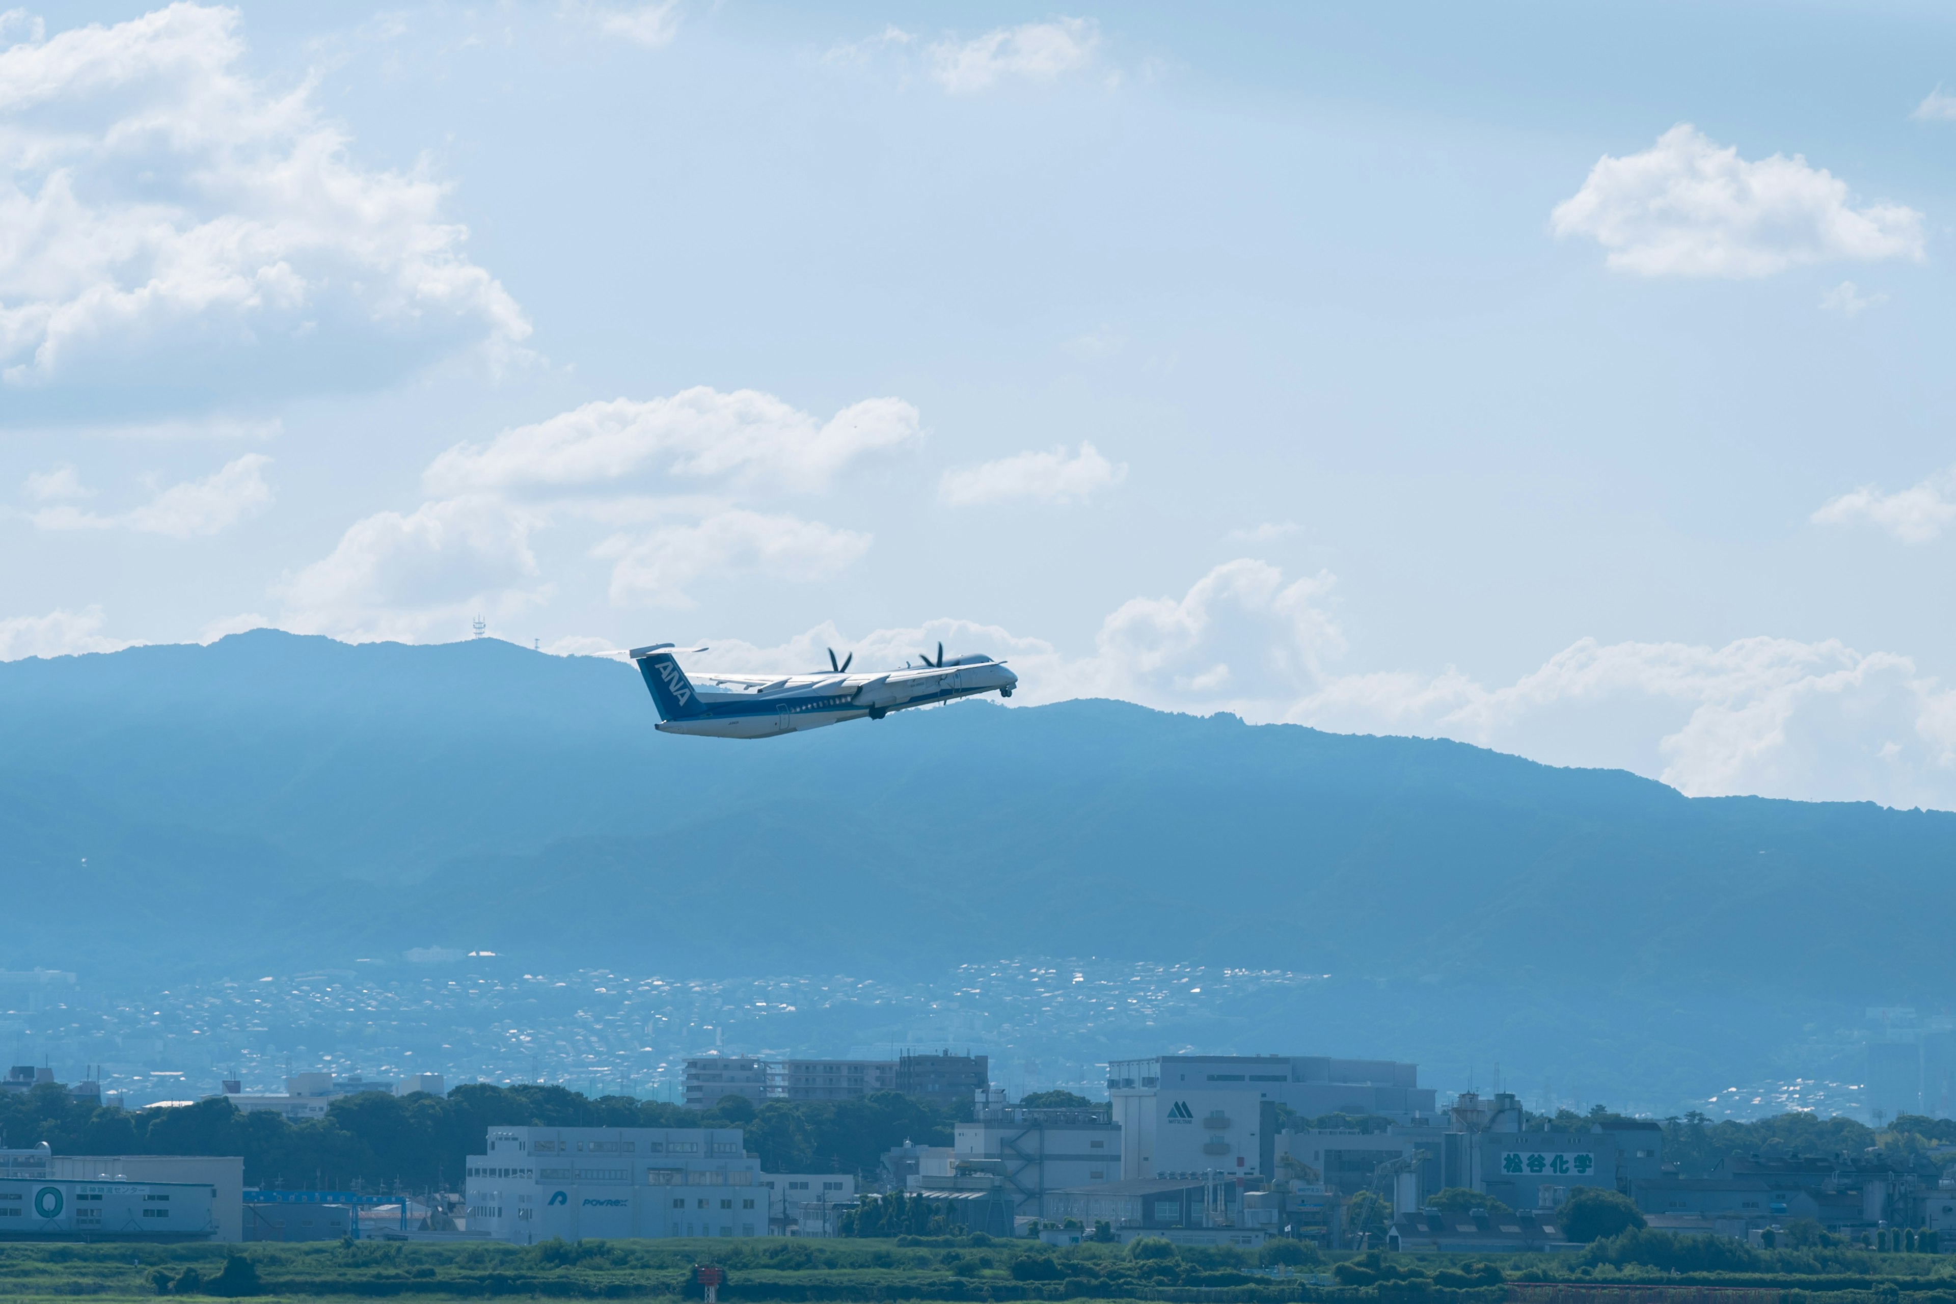
[[[1866,999],[1952,968],[1936,911],[1893,905],[1948,903],[1956,815],[1686,800],[1445,741],[1119,702],[677,739],[612,661],[272,631],[10,663],[0,717],[29,897],[63,899],[84,854],[170,884],[51,911],[33,960],[65,968],[111,964],[76,960],[74,913],[147,962],[211,931],[201,956],[307,964],[434,942],[716,972],[820,946],[892,976],[1101,954]]]

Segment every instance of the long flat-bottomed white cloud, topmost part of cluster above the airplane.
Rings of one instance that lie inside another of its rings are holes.
[[[853,459],[921,438],[917,409],[865,399],[818,424],[755,389],[687,389],[671,399],[585,403],[489,444],[456,444],[424,473],[432,493],[536,493],[734,477],[802,493]]]

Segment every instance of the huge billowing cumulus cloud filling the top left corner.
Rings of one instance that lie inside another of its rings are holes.
[[[43,418],[378,383],[528,336],[440,182],[362,168],[311,82],[266,88],[243,57],[237,10],[200,4],[0,51],[0,383]]]

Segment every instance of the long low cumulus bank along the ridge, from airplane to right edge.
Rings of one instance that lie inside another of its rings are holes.
[[[1508,684],[1457,669],[1340,673],[1336,581],[1289,581],[1238,559],[1181,596],[1134,598],[1088,655],[970,620],[851,637],[818,626],[780,647],[702,637],[702,669],[782,671],[855,651],[865,669],[949,653],[1009,657],[1015,704],[1111,696],[1162,710],[1234,712],[1258,723],[1412,733],[1551,764],[1622,766],[1688,796],[1760,794],[1956,809],[1956,690],[1909,657],[1839,641],[1578,639]]]

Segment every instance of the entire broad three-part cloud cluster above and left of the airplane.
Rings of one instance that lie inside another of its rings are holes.
[[[814,581],[855,563],[868,534],[763,510],[823,491],[849,463],[921,440],[917,409],[867,399],[829,420],[753,389],[587,403],[456,444],[422,473],[417,512],[356,522],[334,553],[276,590],[289,628],[354,637],[458,630],[464,612],[512,616],[550,594],[534,532],[610,530],[620,606],[692,606],[700,579]]]

